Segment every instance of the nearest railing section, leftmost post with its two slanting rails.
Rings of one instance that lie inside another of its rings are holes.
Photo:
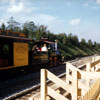
[[[46,84],[46,79],[51,80],[54,82],[57,86],[63,88],[64,90],[67,90],[70,92],[70,87],[66,82],[63,80],[59,79],[57,76],[52,74],[46,69],[41,69],[41,100],[46,100],[47,95],[53,97],[56,100],[69,100],[63,95],[57,93],[54,89],[51,87],[47,86]]]

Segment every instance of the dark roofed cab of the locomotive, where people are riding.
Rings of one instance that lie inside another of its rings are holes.
[[[46,45],[46,51],[43,50],[43,45]],[[49,63],[49,47],[50,44],[48,44],[46,41],[38,41],[33,44],[33,48],[36,46],[36,49],[32,51],[32,65],[36,66],[45,66]]]

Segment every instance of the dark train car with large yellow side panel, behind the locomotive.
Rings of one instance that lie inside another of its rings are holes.
[[[23,33],[0,30],[0,71],[28,65],[28,42]]]

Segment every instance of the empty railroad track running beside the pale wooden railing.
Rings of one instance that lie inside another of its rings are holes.
[[[85,63],[91,62],[91,57],[84,57],[84,58],[81,58],[80,60],[75,59],[75,60],[72,60],[72,61],[69,61],[69,62],[72,63],[73,65],[75,65],[78,68],[82,68],[82,67],[84,67]],[[64,79],[65,73],[58,75],[58,77]],[[49,80],[47,80],[47,84],[49,86],[54,85]],[[4,100],[35,100],[33,98],[37,97],[38,95],[40,95],[40,84],[37,84],[35,86],[32,86],[28,89],[25,89],[25,90],[19,92],[19,93],[16,93],[16,94],[13,94],[9,97],[6,97],[6,98],[4,98]],[[36,99],[36,100],[38,100],[38,99]]]

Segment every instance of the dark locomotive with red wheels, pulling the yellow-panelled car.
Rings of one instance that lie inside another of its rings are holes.
[[[44,44],[47,47],[47,51],[41,50]],[[56,66],[57,64],[61,63],[62,61],[61,53],[55,49],[55,42],[41,40],[35,42],[33,44],[33,47],[34,46],[37,46],[38,49],[32,51],[33,56],[31,58],[32,60],[31,64],[43,68],[49,66]]]

